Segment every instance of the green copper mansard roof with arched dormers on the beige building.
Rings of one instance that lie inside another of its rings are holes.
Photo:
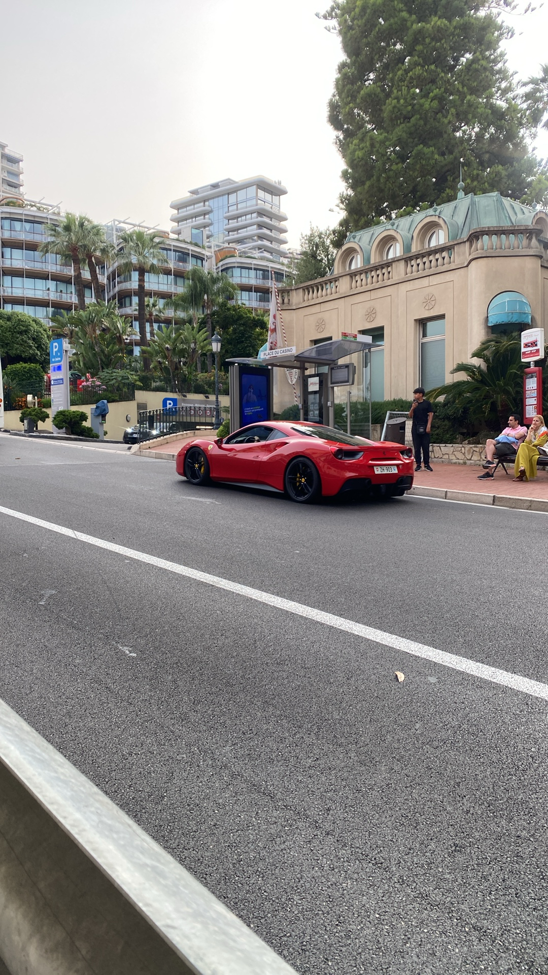
[[[439,207],[421,210],[418,214],[400,216],[397,220],[379,223],[376,227],[366,230],[356,230],[349,234],[347,241],[356,241],[364,252],[364,262],[371,262],[372,243],[385,230],[397,230],[404,241],[404,254],[411,252],[411,238],[415,227],[425,216],[441,216],[449,229],[449,240],[459,240],[467,237],[471,230],[479,227],[512,227],[516,224],[532,223],[536,211],[532,207],[524,207],[515,200],[509,200],[500,193],[484,193],[475,196],[469,193],[460,200],[442,203]]]

